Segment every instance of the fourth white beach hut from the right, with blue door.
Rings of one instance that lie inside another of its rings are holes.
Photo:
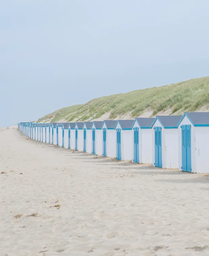
[[[134,120],[118,120],[116,130],[116,158],[117,160],[133,160],[133,132]]]

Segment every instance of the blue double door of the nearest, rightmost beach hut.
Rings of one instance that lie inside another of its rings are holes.
[[[191,172],[191,125],[181,125],[182,171]]]

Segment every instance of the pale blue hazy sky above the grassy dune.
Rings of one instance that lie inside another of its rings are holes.
[[[209,76],[208,0],[0,0],[0,126]]]

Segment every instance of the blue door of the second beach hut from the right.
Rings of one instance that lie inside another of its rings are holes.
[[[156,167],[162,168],[162,128],[154,127],[155,133],[155,163]]]

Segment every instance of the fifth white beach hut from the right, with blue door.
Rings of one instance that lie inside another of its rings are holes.
[[[102,155],[103,157],[116,158],[117,155],[117,134],[115,125],[117,120],[104,120],[102,123]]]

